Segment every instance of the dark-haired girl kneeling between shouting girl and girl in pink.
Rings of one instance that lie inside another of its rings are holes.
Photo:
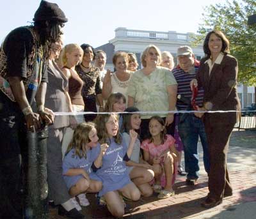
[[[129,136],[130,130],[140,130],[141,119],[138,111],[139,110],[136,107],[128,107],[125,109],[125,112],[131,112],[129,114],[124,114],[122,136],[126,144],[129,144],[131,140],[131,137]],[[140,140],[138,138],[135,141],[131,158],[126,165],[129,169],[129,176],[132,179],[132,182],[139,188],[141,195],[144,197],[152,195],[153,190],[149,183],[154,179],[153,166],[141,158]]]

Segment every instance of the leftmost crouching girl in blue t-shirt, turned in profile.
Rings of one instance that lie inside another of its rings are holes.
[[[77,210],[81,210],[81,206],[89,205],[84,192],[99,192],[102,188],[102,181],[92,172],[91,168],[100,167],[102,156],[108,145],[100,146],[98,140],[97,130],[93,123],[80,123],[63,160],[63,178]]]

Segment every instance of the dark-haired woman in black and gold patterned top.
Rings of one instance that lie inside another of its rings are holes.
[[[88,44],[81,45],[84,51],[82,63],[76,67],[76,71],[84,82],[82,96],[84,100],[84,112],[97,112],[96,99],[100,103],[100,111],[103,110],[102,89],[100,88],[99,68],[92,65],[94,59],[93,47]],[[96,115],[84,115],[85,121],[93,121]]]

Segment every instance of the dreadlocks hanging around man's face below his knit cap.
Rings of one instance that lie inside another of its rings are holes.
[[[63,34],[61,27],[63,22],[56,20],[36,20],[34,28],[38,32],[40,39],[38,45],[42,45],[44,51],[44,60],[47,60],[51,52],[51,44],[56,43]]]

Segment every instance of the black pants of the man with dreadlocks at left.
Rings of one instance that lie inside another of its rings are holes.
[[[0,91],[0,218],[22,218],[20,142],[26,138],[17,103]]]

